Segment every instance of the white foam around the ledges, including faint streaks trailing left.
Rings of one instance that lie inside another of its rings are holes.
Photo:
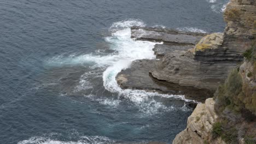
[[[156,113],[159,109],[172,110],[173,107],[166,107],[161,102],[155,101],[154,97],[176,98],[184,101],[191,101],[184,98],[184,95],[168,95],[159,94],[157,92],[146,92],[142,90],[121,89],[118,86],[115,76],[123,69],[130,66],[131,62],[136,59],[154,59],[154,45],[149,41],[136,41],[131,39],[131,26],[146,26],[141,20],[126,20],[113,23],[109,31],[112,33],[110,37],[106,37],[105,40],[110,44],[110,49],[117,51],[115,53],[106,56],[95,56],[92,54],[86,55],[72,55],[69,57],[54,57],[49,59],[48,64],[51,65],[77,65],[77,64],[91,64],[92,68],[106,69],[103,72],[103,85],[112,92],[118,93],[119,97],[123,97],[132,101],[139,107],[139,110],[152,114]],[[197,28],[184,27],[187,31],[193,32],[205,32]],[[160,44],[160,43],[159,43]],[[97,73],[97,72],[96,72]],[[94,73],[85,73],[80,77],[79,85],[75,88],[75,91],[82,89],[90,89],[91,83],[89,79],[94,76],[101,76],[100,74],[94,75]],[[98,101],[103,105],[110,105],[117,107],[120,103],[118,99],[108,98],[94,98],[94,95],[86,95],[86,97]]]

